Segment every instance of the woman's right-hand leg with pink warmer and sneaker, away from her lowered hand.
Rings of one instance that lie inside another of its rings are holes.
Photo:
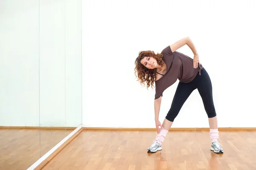
[[[205,69],[201,71],[201,81],[198,85],[198,92],[204,103],[204,109],[207,112],[209,127],[210,127],[210,140],[212,142],[211,150],[215,153],[223,153],[223,149],[218,143],[218,121],[215,112],[215,107],[212,97],[212,83],[210,77]]]

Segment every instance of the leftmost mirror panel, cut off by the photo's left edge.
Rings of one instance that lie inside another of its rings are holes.
[[[38,1],[0,1],[0,169],[40,158]]]

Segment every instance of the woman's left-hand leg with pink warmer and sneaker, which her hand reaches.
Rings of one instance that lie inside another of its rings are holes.
[[[189,95],[193,92],[194,86],[192,83],[179,83],[172,100],[171,108],[166,115],[166,118],[163,121],[163,129],[160,129],[160,133],[157,134],[156,139],[154,140],[153,144],[148,147],[148,152],[157,152],[157,150],[162,149],[162,143],[166,138],[166,135],[169,129],[172,126],[174,119],[177,117],[178,113],[180,112],[181,107],[189,97]]]

